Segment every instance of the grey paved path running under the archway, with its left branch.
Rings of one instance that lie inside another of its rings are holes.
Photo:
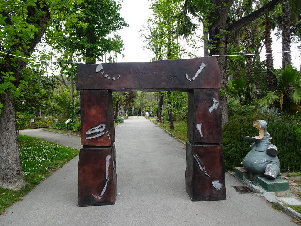
[[[237,193],[226,174],[226,201],[191,202],[185,192],[186,150],[151,121],[129,117],[116,130],[118,195],[113,206],[77,206],[78,157],[0,216],[0,226],[296,225],[262,197]],[[81,148],[79,137],[37,130],[21,134]]]

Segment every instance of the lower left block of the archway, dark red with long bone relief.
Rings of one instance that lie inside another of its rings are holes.
[[[117,195],[115,145],[82,148],[78,164],[78,205],[114,205]]]

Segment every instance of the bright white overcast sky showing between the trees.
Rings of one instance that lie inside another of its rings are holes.
[[[143,49],[145,46],[144,37],[141,37],[139,30],[142,29],[142,25],[147,23],[148,17],[151,16],[151,10],[149,9],[150,2],[148,0],[123,0],[122,8],[120,10],[121,17],[123,17],[129,27],[124,27],[117,33],[123,39],[125,51],[121,56],[117,57],[117,62],[148,62],[153,57],[153,53],[148,49]],[[200,46],[203,44],[200,43]],[[293,43],[291,50],[298,50],[298,44]],[[265,49],[262,49],[264,52]],[[281,52],[281,42],[273,39],[272,52]],[[301,52],[292,52],[293,65],[300,68]],[[203,56],[203,49],[197,53],[198,56]],[[265,55],[261,55],[262,60]],[[282,53],[274,54],[274,68],[282,67]]]

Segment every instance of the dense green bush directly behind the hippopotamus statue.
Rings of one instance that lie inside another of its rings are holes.
[[[301,137],[299,129],[290,122],[273,115],[250,112],[244,116],[231,115],[223,128],[223,150],[226,168],[233,170],[241,167],[245,155],[250,151],[251,143],[245,136],[257,136],[258,130],[253,127],[256,120],[265,120],[268,123],[268,132],[273,138],[272,144],[278,148],[280,168],[284,171],[301,170]]]

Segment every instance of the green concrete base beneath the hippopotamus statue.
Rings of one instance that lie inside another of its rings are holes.
[[[248,182],[248,180],[253,180],[253,182],[256,183],[257,186],[262,187],[268,192],[286,191],[290,187],[290,184],[286,180],[283,180],[279,177],[281,176],[280,173],[278,174],[278,177],[275,180],[271,180],[265,177],[264,175],[254,174],[245,170],[242,167],[237,167],[234,169],[234,175],[238,179],[244,180],[245,182]]]

